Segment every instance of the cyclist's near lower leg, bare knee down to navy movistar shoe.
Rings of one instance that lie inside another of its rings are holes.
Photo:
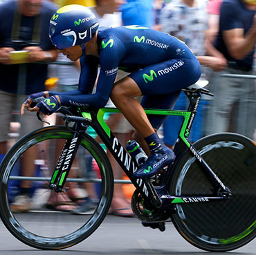
[[[143,107],[134,99],[138,95],[141,95],[141,91],[136,82],[130,77],[125,77],[113,86],[111,100],[134,126],[134,129],[145,138],[145,142],[149,146],[148,160],[134,173],[136,177],[147,178],[154,176],[163,167],[170,164],[174,160],[174,153],[165,147],[161,139],[158,138]]]

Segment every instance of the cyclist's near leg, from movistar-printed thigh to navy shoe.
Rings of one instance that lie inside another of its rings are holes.
[[[175,68],[174,68],[175,66]],[[171,67],[171,68],[170,68]],[[173,67],[173,68],[172,68]],[[166,69],[166,71],[164,71]],[[184,75],[185,74],[185,75]],[[182,62],[180,59],[169,59],[165,62],[140,68],[129,77],[125,77],[114,84],[111,91],[111,100],[125,115],[140,135],[145,138],[149,146],[149,158],[142,167],[134,173],[136,178],[149,178],[163,169],[174,160],[173,151],[166,147],[158,137],[147,115],[134,97],[152,95],[161,101],[166,94],[170,95],[196,82],[201,75],[200,64],[192,57]],[[172,81],[172,84],[170,84]]]

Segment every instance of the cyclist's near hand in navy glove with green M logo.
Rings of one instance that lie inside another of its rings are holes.
[[[37,106],[35,106],[35,111],[39,111],[44,115],[51,115],[60,109],[60,97],[53,95],[40,101]]]

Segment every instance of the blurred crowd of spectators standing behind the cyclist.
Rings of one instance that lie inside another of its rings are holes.
[[[256,66],[254,52],[256,44],[256,3],[247,0],[0,0],[0,100],[1,135],[0,159],[8,150],[8,133],[12,112],[19,108],[22,100],[31,93],[44,91],[45,81],[50,75],[59,78],[57,91],[68,91],[77,87],[79,63],[71,66],[48,65],[57,59],[55,50],[48,39],[48,21],[57,6],[82,4],[91,6],[100,21],[100,26],[140,25],[161,30],[178,37],[199,57],[203,75],[214,98],[203,97],[198,108],[192,129],[192,142],[208,135],[223,131],[233,131],[256,140],[256,99],[255,79],[246,77],[224,77],[229,75],[254,75]],[[29,8],[28,8],[29,6]],[[8,19],[9,22],[5,22]],[[35,26],[36,25],[36,26]],[[26,50],[26,64],[12,62],[12,55]],[[63,55],[58,60],[68,62]],[[44,62],[44,64],[34,64]],[[49,68],[50,67],[50,68]],[[78,68],[78,69],[77,69]],[[48,71],[50,70],[50,71]],[[38,75],[40,74],[40,75]],[[118,73],[124,77],[125,73]],[[21,77],[25,77],[23,80]],[[71,77],[73,79],[71,79]],[[170,84],[172,81],[170,81]],[[140,99],[138,99],[140,100]],[[111,104],[111,102],[109,102]],[[186,109],[188,102],[183,93],[176,103],[176,109]],[[28,116],[33,118],[35,116]],[[38,126],[30,119],[21,122],[20,135],[24,135]],[[25,124],[29,123],[29,124]],[[109,117],[111,129],[115,129],[123,145],[131,137],[132,129],[121,115]],[[119,127],[118,127],[119,126]],[[173,147],[181,126],[181,120],[170,117],[163,125],[166,144]],[[34,154],[33,154],[34,153]],[[109,155],[109,154],[108,154]],[[29,165],[31,152],[24,159]],[[118,164],[109,155],[116,179],[122,178]],[[33,166],[26,167],[29,175]],[[88,187],[87,187],[88,189]],[[17,198],[13,209],[27,205],[29,201],[28,182],[21,185],[21,196]],[[131,216],[129,202],[122,194],[122,186],[116,185],[112,211],[118,216]],[[22,201],[22,202],[21,202]],[[72,208],[73,209],[73,208]],[[78,209],[77,212],[86,210]]]

